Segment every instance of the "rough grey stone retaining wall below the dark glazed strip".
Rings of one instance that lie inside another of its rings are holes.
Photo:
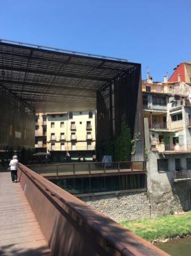
[[[80,199],[117,222],[127,219],[149,218],[147,192],[90,195]]]

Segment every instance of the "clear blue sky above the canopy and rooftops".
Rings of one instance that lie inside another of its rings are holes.
[[[6,0],[0,38],[126,58],[161,81],[191,60],[191,2]]]

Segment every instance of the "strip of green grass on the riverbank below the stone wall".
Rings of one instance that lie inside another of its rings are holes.
[[[123,221],[120,224],[148,241],[173,238],[191,234],[191,211],[179,215]]]

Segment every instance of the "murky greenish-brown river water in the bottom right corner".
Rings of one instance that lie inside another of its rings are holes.
[[[191,237],[179,238],[156,246],[172,256],[191,256]]]

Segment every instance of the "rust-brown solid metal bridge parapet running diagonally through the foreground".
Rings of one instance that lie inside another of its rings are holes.
[[[53,256],[167,256],[26,166],[18,178]]]

